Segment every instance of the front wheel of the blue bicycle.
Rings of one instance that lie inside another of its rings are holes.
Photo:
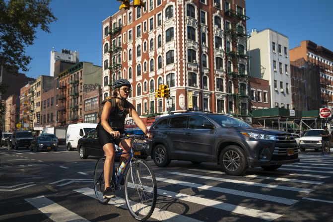
[[[156,205],[155,175],[143,159],[134,160],[129,167],[125,180],[126,204],[136,220],[145,221],[151,216]]]

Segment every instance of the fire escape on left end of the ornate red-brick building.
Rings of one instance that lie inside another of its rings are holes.
[[[116,76],[116,72],[118,70],[120,70],[122,68],[122,64],[121,64],[121,53],[122,53],[122,46],[121,46],[121,42],[118,42],[118,46],[117,46],[117,37],[119,35],[121,35],[120,31],[122,30],[122,25],[118,24],[118,27],[114,27],[114,29],[112,29],[109,34],[111,35],[111,43],[110,43],[110,49],[109,49],[109,53],[110,53],[110,65],[109,65],[109,70],[110,70],[110,82],[109,82],[109,86],[112,87],[113,82],[115,81],[115,76]],[[112,78],[111,78],[111,74]]]

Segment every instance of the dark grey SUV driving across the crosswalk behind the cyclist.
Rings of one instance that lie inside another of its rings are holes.
[[[229,175],[249,166],[274,170],[298,162],[297,143],[290,133],[259,130],[229,115],[187,112],[157,119],[148,154],[157,166],[171,160],[216,162]]]

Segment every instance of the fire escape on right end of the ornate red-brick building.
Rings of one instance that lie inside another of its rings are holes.
[[[231,21],[231,27],[226,26],[225,35],[229,36],[231,39],[232,47],[226,47],[226,55],[227,55],[227,87],[228,87],[228,98],[229,101],[233,100],[233,106],[235,108],[234,115],[236,117],[247,116],[247,105],[242,105],[241,101],[247,101],[249,99],[249,95],[247,92],[247,84],[248,78],[250,77],[246,72],[246,65],[248,64],[248,56],[246,53],[246,41],[248,39],[248,35],[246,34],[246,30],[241,26],[243,22],[249,19],[248,16],[243,14],[243,8],[237,7],[237,11],[234,9],[227,9],[225,11],[225,15],[227,15],[226,19]],[[245,25],[244,25],[245,26]],[[228,38],[226,38],[228,39]],[[244,45],[240,44],[243,40]],[[240,63],[243,61],[243,63]],[[231,66],[232,64],[232,66]],[[244,65],[246,64],[246,65]],[[232,91],[231,85],[229,81],[234,85],[234,90]],[[243,82],[241,82],[243,81]],[[241,82],[241,83],[240,83]],[[246,82],[246,84],[244,83]],[[247,103],[246,103],[247,104]],[[229,107],[230,109],[231,107]],[[233,114],[229,112],[230,114]]]

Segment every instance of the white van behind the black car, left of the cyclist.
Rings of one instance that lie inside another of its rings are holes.
[[[77,148],[77,142],[90,130],[97,127],[97,123],[76,123],[69,124],[66,133],[66,146],[70,151],[73,148]]]

